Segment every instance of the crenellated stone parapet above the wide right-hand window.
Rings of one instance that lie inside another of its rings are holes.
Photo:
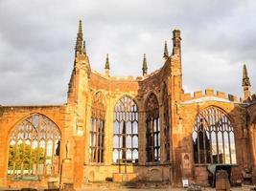
[[[213,89],[207,88],[204,91],[197,91],[194,93],[186,93],[182,95],[182,101],[187,102],[198,98],[203,97],[217,97],[223,100],[227,100],[229,102],[242,103],[242,98],[234,95],[226,95],[223,92],[214,91]]]

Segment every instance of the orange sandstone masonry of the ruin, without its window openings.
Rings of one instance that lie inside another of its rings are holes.
[[[236,96],[207,89],[184,94],[182,87],[180,32],[174,32],[174,50],[165,56],[163,67],[139,77],[113,77],[91,70],[89,58],[81,50],[82,35],[75,57],[67,94],[67,102],[47,106],[0,106],[0,186],[47,187],[48,175],[37,180],[15,180],[7,176],[10,135],[26,117],[40,114],[48,117],[59,129],[61,142],[56,159],[56,179],[66,190],[81,188],[84,183],[105,180],[169,182],[181,185],[186,178],[201,185],[208,184],[206,165],[195,163],[192,133],[195,118],[209,107],[218,108],[231,121],[235,134],[237,165],[232,167],[231,182],[242,180],[242,169],[249,165],[252,180],[256,180],[256,102],[239,102]],[[108,69],[107,69],[108,70]],[[163,94],[167,87],[167,95]],[[92,100],[101,92],[105,101],[104,162],[90,161],[90,118]],[[147,162],[146,100],[153,93],[159,105],[160,161]],[[216,93],[216,94],[215,94]],[[123,96],[131,97],[138,106],[138,151],[136,164],[113,164],[113,112],[116,102]],[[164,99],[168,100],[170,133],[164,127]],[[254,100],[254,99],[253,99]],[[165,139],[169,136],[169,142]],[[171,158],[167,159],[167,145]],[[68,154],[67,154],[68,153]],[[126,174],[122,174],[125,172]],[[46,170],[45,170],[46,171]],[[122,175],[121,175],[122,174]],[[221,180],[220,180],[221,182]],[[221,184],[222,185],[222,184]],[[195,188],[196,189],[196,188]],[[198,189],[198,188],[197,188]]]

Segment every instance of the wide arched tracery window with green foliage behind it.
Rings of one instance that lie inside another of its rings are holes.
[[[55,175],[59,170],[60,132],[47,117],[32,115],[10,136],[9,175]]]

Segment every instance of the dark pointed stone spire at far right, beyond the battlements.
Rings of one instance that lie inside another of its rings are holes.
[[[251,97],[251,85],[250,85],[250,79],[247,73],[246,65],[244,64],[243,67],[243,82],[242,82],[242,87],[244,91],[244,101],[250,100]]]

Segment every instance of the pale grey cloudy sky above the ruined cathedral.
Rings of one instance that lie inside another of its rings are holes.
[[[0,0],[0,104],[66,101],[79,19],[90,64],[112,75],[163,65],[164,41],[182,35],[185,92],[242,96],[246,63],[256,89],[255,0]]]

